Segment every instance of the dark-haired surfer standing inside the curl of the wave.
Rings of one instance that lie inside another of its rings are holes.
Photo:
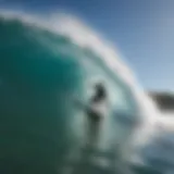
[[[87,103],[84,103],[77,98],[75,99],[76,105],[87,115],[89,132],[87,133],[86,140],[90,146],[97,142],[100,132],[100,123],[108,113],[107,100],[108,94],[102,83],[95,85],[95,95],[88,100]]]

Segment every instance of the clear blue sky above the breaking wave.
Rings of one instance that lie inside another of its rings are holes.
[[[174,91],[173,0],[0,0],[0,9],[64,10],[115,45],[149,90]]]

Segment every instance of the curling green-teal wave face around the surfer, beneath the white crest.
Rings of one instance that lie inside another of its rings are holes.
[[[90,42],[82,45],[85,34],[71,35],[69,25],[69,29],[54,25],[50,29],[35,20],[12,16],[0,16],[0,170],[58,173],[63,159],[79,151],[87,135],[87,116],[74,107],[73,99],[86,102],[100,80],[108,90],[110,109],[97,149],[115,151],[116,141],[124,157],[134,123],[145,108],[138,92],[133,92],[132,77],[124,77],[128,69],[120,64],[115,70],[112,64],[117,58],[105,62],[113,54],[107,59],[107,52],[99,53]]]

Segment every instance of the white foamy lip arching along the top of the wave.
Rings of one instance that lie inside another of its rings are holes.
[[[22,11],[0,10],[0,17],[7,20],[18,18],[24,24],[44,27],[59,35],[65,35],[79,47],[89,48],[99,55],[113,74],[119,74],[122,80],[134,92],[144,116],[144,123],[138,127],[135,135],[136,144],[144,144],[154,129],[154,124],[159,117],[159,111],[153,101],[146,95],[138,85],[132,71],[126,63],[120,59],[115,48],[110,46],[107,40],[101,39],[98,33],[86,26],[82,20],[65,13],[52,13],[48,16],[26,14]]]

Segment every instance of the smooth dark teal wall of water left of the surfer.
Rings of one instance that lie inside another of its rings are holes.
[[[3,18],[0,35],[0,158],[8,170],[48,165],[48,173],[69,145],[64,120],[73,114],[65,96],[80,92],[80,66],[59,52],[69,45],[64,37]],[[55,41],[57,52],[39,39]]]

